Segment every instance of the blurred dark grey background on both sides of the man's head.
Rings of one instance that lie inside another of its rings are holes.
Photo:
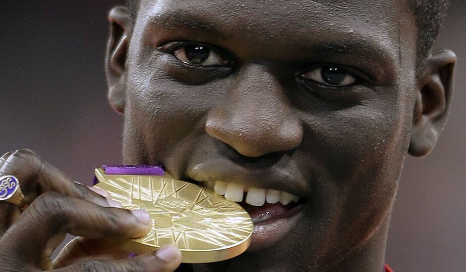
[[[94,167],[121,162],[122,119],[107,104],[103,66],[117,3],[2,0],[0,152],[30,148],[87,184]],[[454,102],[433,153],[406,162],[386,255],[395,272],[466,268],[465,15],[466,1],[453,0],[436,45],[460,60]]]

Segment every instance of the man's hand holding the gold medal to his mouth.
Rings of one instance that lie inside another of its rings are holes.
[[[91,189],[71,180],[29,150],[3,155],[0,176],[4,175],[18,178],[30,206],[21,213],[18,207],[0,201],[2,271],[165,272],[174,271],[179,266],[181,253],[174,246],[122,260],[108,260],[122,257],[117,251],[111,251],[109,256],[112,258],[68,262],[66,267],[63,267],[64,259],[52,263],[50,255],[66,233],[90,239],[136,238],[149,231],[149,216],[142,210],[118,208],[117,202],[105,197],[104,190]]]

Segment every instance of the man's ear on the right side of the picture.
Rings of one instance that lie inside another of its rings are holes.
[[[419,71],[409,154],[426,156],[445,126],[453,92],[456,55],[449,50],[429,55]]]

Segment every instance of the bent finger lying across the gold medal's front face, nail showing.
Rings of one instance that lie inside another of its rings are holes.
[[[151,228],[142,210],[104,208],[55,192],[39,196],[1,239],[0,252],[21,252],[34,264],[44,259],[44,249],[54,237],[70,233],[93,239],[136,238]],[[47,253],[49,254],[49,253]],[[50,256],[47,256],[50,257]]]

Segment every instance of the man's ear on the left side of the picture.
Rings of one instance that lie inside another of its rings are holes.
[[[126,7],[114,7],[109,13],[110,36],[107,43],[105,68],[109,88],[108,98],[112,108],[124,112],[126,84],[126,56],[131,29],[131,13]]]

